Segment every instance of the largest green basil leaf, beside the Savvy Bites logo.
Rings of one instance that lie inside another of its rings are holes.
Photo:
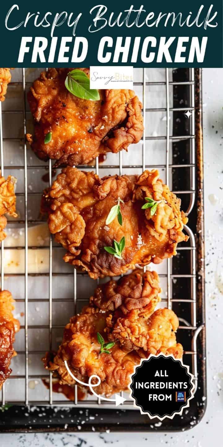
[[[65,87],[78,98],[91,101],[99,101],[100,99],[98,90],[90,89],[90,79],[82,70],[75,69],[69,72],[66,76]]]

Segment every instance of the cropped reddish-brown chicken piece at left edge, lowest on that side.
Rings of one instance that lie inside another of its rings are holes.
[[[0,389],[12,372],[9,367],[11,358],[17,355],[13,343],[15,333],[20,329],[20,323],[12,314],[14,302],[8,290],[0,291]]]

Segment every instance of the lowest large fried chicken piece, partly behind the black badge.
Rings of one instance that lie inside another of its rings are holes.
[[[62,391],[64,385],[75,384],[64,360],[73,375],[85,383],[92,374],[99,375],[101,384],[95,391],[111,396],[127,389],[129,375],[140,358],[160,352],[182,358],[183,348],[175,336],[177,316],[169,309],[154,312],[160,290],[157,273],[141,270],[96,288],[90,305],[66,325],[58,352],[43,358]],[[105,342],[116,342],[111,354],[99,354],[97,332]],[[66,396],[74,399],[74,393],[67,388]]]

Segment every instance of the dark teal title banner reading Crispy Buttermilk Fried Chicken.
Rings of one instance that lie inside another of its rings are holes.
[[[223,2],[4,1],[1,67],[223,67]]]

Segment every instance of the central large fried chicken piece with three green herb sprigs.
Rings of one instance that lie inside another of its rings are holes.
[[[107,226],[107,215],[119,197],[124,201],[123,225],[116,217]],[[141,209],[145,197],[163,200],[153,216],[150,209]],[[180,204],[156,169],[140,176],[100,179],[93,172],[67,167],[45,192],[42,208],[49,213],[50,232],[67,250],[64,260],[87,270],[91,278],[103,278],[175,255],[178,242],[188,239],[182,232],[188,219]],[[117,259],[104,247],[123,236],[125,248],[122,259]]]

